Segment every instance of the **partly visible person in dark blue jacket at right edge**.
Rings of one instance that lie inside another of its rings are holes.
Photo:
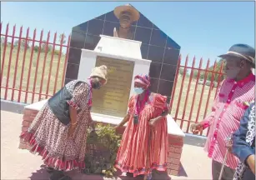
[[[241,161],[234,180],[255,179],[255,102],[244,113],[240,127],[233,134],[232,153]]]

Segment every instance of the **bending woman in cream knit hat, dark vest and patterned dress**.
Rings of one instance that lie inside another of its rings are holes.
[[[64,171],[85,168],[87,129],[92,122],[92,91],[107,82],[107,70],[106,66],[95,67],[87,82],[68,82],[53,96],[57,98],[51,97],[57,102],[50,98],[38,112],[28,131],[21,134],[20,138],[31,145],[30,152],[43,157],[51,180],[70,179],[64,175]],[[66,90],[72,95],[68,101],[67,96],[63,97]],[[59,108],[61,102],[58,101],[62,98],[63,104],[66,104],[69,110],[68,123],[63,122],[65,116],[60,118],[65,113]]]

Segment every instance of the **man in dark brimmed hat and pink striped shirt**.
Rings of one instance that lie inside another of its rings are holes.
[[[223,80],[218,89],[212,112],[202,122],[191,126],[194,134],[210,128],[205,150],[208,152],[208,157],[213,159],[213,180],[218,179],[221,171],[226,152],[226,138],[238,129],[240,119],[248,108],[246,102],[252,102],[255,98],[255,76],[251,70],[255,66],[253,47],[235,44],[226,54],[219,57],[226,60],[227,78]],[[228,153],[225,165],[222,179],[233,179],[234,169],[238,166],[238,158]]]

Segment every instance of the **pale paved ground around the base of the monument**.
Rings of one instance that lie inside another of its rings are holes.
[[[1,111],[1,179],[48,179],[43,161],[39,156],[29,153],[27,150],[18,149],[19,134],[23,115]],[[185,144],[181,158],[183,169],[180,176],[172,176],[172,179],[211,179],[211,160],[203,152],[203,148]],[[107,180],[97,175],[85,175],[71,172],[74,180]],[[156,179],[170,179],[164,174],[157,175]],[[120,175],[115,179],[131,179]],[[138,178],[137,178],[138,179]]]

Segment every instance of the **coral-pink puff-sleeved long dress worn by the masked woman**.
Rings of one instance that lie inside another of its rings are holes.
[[[158,117],[168,109],[166,97],[151,93],[143,109],[138,113],[138,123],[134,124],[133,116],[138,95],[131,97],[128,103],[128,126],[123,133],[122,143],[118,150],[115,167],[123,172],[151,174],[153,169],[165,171],[167,166],[168,132],[167,120],[156,122],[150,128],[148,121]]]

